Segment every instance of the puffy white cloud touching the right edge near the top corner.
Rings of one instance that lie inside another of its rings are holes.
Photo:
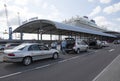
[[[120,11],[120,2],[103,9],[103,12],[105,12],[107,14],[112,14],[112,13],[115,13],[118,11]]]

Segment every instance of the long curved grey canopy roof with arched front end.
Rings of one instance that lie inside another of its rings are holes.
[[[13,32],[23,32],[23,33],[40,33],[43,34],[55,34],[55,35],[69,35],[71,33],[87,33],[94,34],[100,36],[108,36],[115,37],[111,34],[106,34],[100,31],[90,30],[83,27],[71,26],[55,21],[50,20],[34,20],[28,23],[25,23],[18,28],[16,28]]]

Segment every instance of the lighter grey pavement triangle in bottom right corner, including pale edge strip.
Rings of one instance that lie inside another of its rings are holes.
[[[96,76],[93,81],[120,81],[120,55]]]

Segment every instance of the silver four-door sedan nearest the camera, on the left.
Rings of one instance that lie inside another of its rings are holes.
[[[29,65],[35,60],[59,57],[59,51],[49,49],[44,45],[37,43],[24,43],[13,49],[4,50],[4,62],[22,62],[24,65]]]

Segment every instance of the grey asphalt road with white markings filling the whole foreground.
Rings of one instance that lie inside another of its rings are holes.
[[[120,45],[60,55],[30,66],[0,63],[0,81],[119,81]]]

